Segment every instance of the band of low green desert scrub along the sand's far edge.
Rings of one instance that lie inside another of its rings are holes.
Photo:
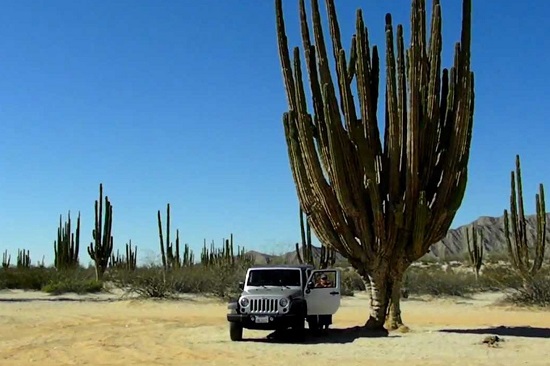
[[[197,263],[168,272],[162,264],[132,269],[112,266],[106,271],[102,281],[96,280],[95,268],[92,267],[66,271],[58,271],[54,267],[10,267],[0,269],[0,290],[83,294],[117,288],[126,295],[157,299],[176,298],[181,294],[203,294],[223,300],[238,296],[238,283],[243,280],[250,262],[243,260],[235,261],[234,264],[218,263],[216,266]],[[504,301],[507,304],[550,307],[549,266],[542,267],[533,278],[529,291],[526,291],[522,277],[509,265],[486,264],[478,278],[475,272],[468,270],[468,265],[467,262],[456,267],[442,262],[413,265],[405,273],[403,293],[413,297],[468,297],[480,292],[504,291]],[[356,270],[351,267],[341,270],[344,296],[354,296],[355,293],[366,290],[365,282]]]

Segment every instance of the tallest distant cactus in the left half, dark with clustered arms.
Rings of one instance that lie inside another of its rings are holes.
[[[103,227],[102,227],[103,225]],[[93,242],[88,247],[88,254],[94,261],[96,279],[99,281],[107,270],[113,252],[113,206],[105,196],[105,219],[103,220],[103,185],[99,185],[99,200],[95,201],[95,228],[92,230]]]

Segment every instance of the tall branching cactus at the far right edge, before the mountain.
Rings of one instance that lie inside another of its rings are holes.
[[[539,185],[539,193],[535,196],[537,232],[534,248],[529,248],[527,240],[527,220],[523,208],[523,187],[521,182],[521,164],[516,155],[516,174],[511,172],[510,215],[504,210],[504,235],[512,266],[523,279],[526,290],[530,290],[533,277],[538,273],[544,261],[546,246],[546,205],[544,202],[544,186]],[[511,217],[510,217],[511,216]],[[510,230],[510,221],[512,228]],[[534,249],[534,258],[530,258],[530,249]]]

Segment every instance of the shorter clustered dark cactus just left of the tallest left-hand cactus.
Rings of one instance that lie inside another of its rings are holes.
[[[71,232],[71,212],[67,214],[67,221],[62,224],[62,216],[59,215],[59,227],[57,228],[57,240],[53,243],[54,267],[57,270],[78,267],[78,252],[80,246],[80,212],[76,220],[76,232]]]

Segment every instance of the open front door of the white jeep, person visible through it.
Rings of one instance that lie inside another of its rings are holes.
[[[312,271],[305,290],[307,315],[335,314],[340,307],[340,288],[339,270],[319,269]]]

